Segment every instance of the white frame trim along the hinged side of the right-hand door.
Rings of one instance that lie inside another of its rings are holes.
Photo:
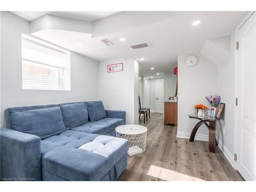
[[[238,31],[239,29],[245,24],[245,22],[248,20],[248,18],[254,13],[255,11],[250,11],[244,19],[240,22],[240,24],[237,26],[236,31],[235,31],[235,36],[236,36],[236,42],[238,41]],[[238,76],[239,76],[239,71],[238,71],[238,50],[235,50],[234,53],[234,153],[237,154],[237,149],[238,149],[238,107],[236,106],[236,98],[238,97]],[[239,101],[238,101],[239,104]],[[234,155],[234,154],[233,154]],[[233,168],[237,170],[237,161],[233,161]]]

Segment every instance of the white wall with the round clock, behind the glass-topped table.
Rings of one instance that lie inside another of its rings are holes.
[[[197,103],[209,106],[204,97],[217,94],[217,65],[199,53],[194,55],[198,60],[194,67],[185,65],[184,60],[188,55],[178,56],[178,137],[189,138],[198,122],[197,119],[189,119],[187,116],[195,113],[193,106]],[[202,125],[197,133],[208,139],[206,126]]]

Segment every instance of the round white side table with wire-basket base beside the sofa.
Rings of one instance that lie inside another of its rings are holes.
[[[116,127],[117,137],[129,140],[129,147],[137,145],[142,149],[142,153],[134,156],[144,153],[146,148],[146,132],[147,128],[142,125],[126,124]]]

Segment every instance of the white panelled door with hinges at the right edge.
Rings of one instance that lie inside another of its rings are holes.
[[[256,13],[238,30],[237,169],[245,180],[256,173]]]

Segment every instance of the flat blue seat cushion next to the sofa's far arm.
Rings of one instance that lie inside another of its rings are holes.
[[[117,126],[123,125],[124,120],[118,118],[104,118],[98,121],[88,121],[88,123],[72,128],[73,131],[94,133],[105,135],[116,129]]]

